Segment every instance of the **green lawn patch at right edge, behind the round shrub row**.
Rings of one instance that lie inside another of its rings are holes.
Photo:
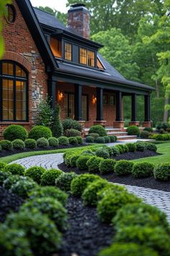
[[[135,162],[143,162],[147,161],[149,163],[165,163],[170,162],[170,142],[162,143],[156,145],[158,148],[158,153],[161,153],[161,155],[152,156],[150,158],[140,158],[133,160]]]

